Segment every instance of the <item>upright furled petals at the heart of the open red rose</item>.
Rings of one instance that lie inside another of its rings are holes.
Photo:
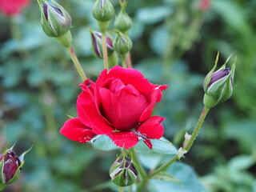
[[[100,88],[102,114],[105,114],[116,130],[130,130],[136,126],[148,105],[146,97],[143,94],[134,94],[136,91],[132,87],[124,86],[118,94]]]

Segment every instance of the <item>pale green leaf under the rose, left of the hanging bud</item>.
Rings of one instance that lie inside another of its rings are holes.
[[[111,141],[106,135],[101,135],[91,144],[97,150],[117,150],[118,147],[114,145],[114,142]]]

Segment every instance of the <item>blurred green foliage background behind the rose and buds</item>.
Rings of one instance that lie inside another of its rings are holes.
[[[86,30],[98,29],[94,1],[58,2],[73,18],[73,46],[82,67],[96,80],[103,64],[92,56]],[[118,1],[112,2],[118,14]],[[170,86],[154,114],[166,118],[164,136],[179,148],[202,110],[202,81],[217,51],[219,66],[230,54],[238,56],[232,98],[210,110],[182,162],[194,168],[206,191],[255,192],[256,1],[214,0],[207,10],[199,9],[200,2],[129,0],[134,68],[150,82]],[[114,191],[108,170],[118,151],[95,150],[58,133],[66,114],[76,116],[80,78],[66,50],[43,34],[37,2],[15,18],[1,14],[0,28],[0,150],[17,142],[21,154],[34,144],[21,177],[4,191]]]

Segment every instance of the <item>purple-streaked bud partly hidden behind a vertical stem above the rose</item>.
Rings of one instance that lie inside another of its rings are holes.
[[[93,54],[98,57],[98,58],[103,58],[103,53],[102,53],[102,34],[90,30],[90,35],[91,35],[91,50]],[[113,44],[109,36],[106,36],[106,48],[107,48],[107,54],[110,56],[114,52],[113,49]]]

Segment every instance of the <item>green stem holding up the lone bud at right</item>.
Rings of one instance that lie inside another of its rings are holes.
[[[188,142],[188,144],[186,145],[186,147],[184,148],[184,150],[189,151],[190,147],[193,145],[195,138],[197,138],[198,136],[198,132],[202,126],[203,121],[206,118],[206,115],[209,112],[209,108],[204,107],[202,109],[201,115],[198,118],[198,122],[196,124],[196,126],[194,127],[194,131],[193,134],[191,135],[190,138],[190,142]],[[142,182],[140,183],[140,185],[137,188],[137,192],[142,191],[143,187],[146,185],[146,182],[148,179],[153,178],[154,175],[159,174],[161,171],[166,170],[173,162],[178,160],[178,154],[176,154],[173,158],[170,159],[169,162],[166,162],[164,165],[160,166],[157,170],[154,170],[153,173],[151,173],[148,177],[146,177],[146,181],[143,179]]]

